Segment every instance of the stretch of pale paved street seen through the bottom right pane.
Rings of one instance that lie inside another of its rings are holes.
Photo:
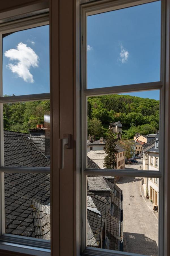
[[[124,251],[157,256],[158,221],[141,197],[141,178],[121,177],[117,185],[123,190]]]

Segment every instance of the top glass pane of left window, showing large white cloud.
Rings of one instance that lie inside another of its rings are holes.
[[[49,25],[3,35],[3,95],[50,92]]]

